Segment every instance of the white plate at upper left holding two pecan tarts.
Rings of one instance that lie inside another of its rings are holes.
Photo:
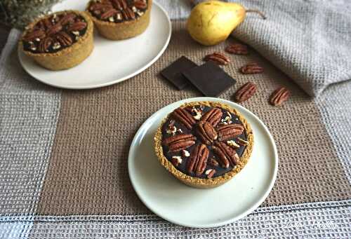
[[[53,11],[68,9],[84,11],[87,0],[63,1]],[[95,29],[94,50],[77,67],[50,71],[19,52],[22,67],[37,80],[58,88],[88,89],[110,86],[147,69],[164,53],[171,38],[171,21],[166,11],[152,4],[150,25],[139,36],[123,41],[102,38]]]

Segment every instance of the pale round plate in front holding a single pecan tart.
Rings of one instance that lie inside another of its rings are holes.
[[[253,153],[245,168],[229,182],[214,189],[195,189],[178,181],[162,167],[154,153],[154,134],[162,119],[184,102],[223,102],[240,111],[253,129]],[[136,132],[128,156],[131,183],[152,212],[182,226],[222,226],[245,217],[267,198],[278,170],[272,135],[248,109],[227,100],[198,97],[160,109]]]

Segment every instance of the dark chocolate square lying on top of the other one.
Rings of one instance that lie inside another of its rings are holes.
[[[235,81],[232,76],[218,67],[214,62],[208,61],[199,67],[183,71],[183,75],[197,88],[208,97],[216,97],[224,90],[233,86]]]

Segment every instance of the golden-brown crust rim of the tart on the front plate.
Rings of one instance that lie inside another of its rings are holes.
[[[210,179],[201,179],[198,177],[192,177],[189,175],[185,175],[185,173],[183,173],[183,172],[180,172],[180,170],[178,170],[176,167],[174,167],[174,165],[171,163],[171,161],[169,161],[166,158],[166,156],[164,156],[164,151],[163,151],[162,146],[161,146],[162,126],[164,125],[164,123],[166,123],[170,114],[168,114],[168,116],[166,118],[164,118],[164,120],[161,122],[159,128],[157,128],[156,135],[154,136],[154,150],[156,152],[157,158],[159,158],[159,162],[161,163],[161,165],[163,165],[164,168],[166,168],[166,170],[168,170],[168,172],[171,172],[171,174],[174,177],[176,177],[177,179],[179,179],[181,182],[183,182],[184,184],[187,184],[189,186],[196,187],[196,188],[209,189],[209,188],[213,188],[216,186],[220,186],[220,185],[224,184],[225,182],[229,181],[230,179],[232,179],[232,177],[237,175],[237,173],[240,172],[245,167],[246,163],[249,161],[249,158],[251,156],[252,149],[253,149],[253,133],[251,130],[251,126],[246,121],[244,116],[242,116],[239,113],[239,111],[232,109],[232,107],[229,107],[227,104],[222,104],[220,102],[190,102],[190,103],[182,104],[180,107],[189,107],[189,106],[194,107],[194,106],[197,106],[199,104],[202,104],[202,105],[205,105],[208,107],[219,107],[219,108],[225,109],[227,111],[230,111],[230,113],[236,115],[239,118],[242,125],[244,126],[244,132],[246,132],[247,141],[249,142],[249,144],[246,146],[246,148],[244,150],[244,153],[242,153],[242,155],[240,157],[239,163],[237,165],[235,165],[235,167],[232,170],[230,170],[229,172],[226,172],[224,175],[220,175],[218,177],[213,177]]]

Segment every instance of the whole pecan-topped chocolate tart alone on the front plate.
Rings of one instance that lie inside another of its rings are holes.
[[[212,188],[232,179],[251,156],[253,134],[241,114],[219,102],[191,102],[175,109],[157,129],[161,164],[183,183]]]

